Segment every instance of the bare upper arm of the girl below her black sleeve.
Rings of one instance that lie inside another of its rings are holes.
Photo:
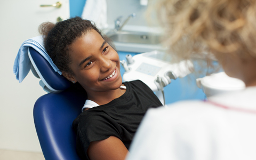
[[[114,136],[110,136],[105,140],[91,142],[87,150],[87,154],[91,160],[123,160],[127,153],[128,150],[124,146],[124,143]]]

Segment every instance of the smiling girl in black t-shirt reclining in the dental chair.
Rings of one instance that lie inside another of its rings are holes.
[[[143,82],[122,82],[116,50],[90,21],[46,22],[39,32],[62,75],[87,93],[83,112],[73,122],[78,155],[124,159],[147,109],[162,103]]]

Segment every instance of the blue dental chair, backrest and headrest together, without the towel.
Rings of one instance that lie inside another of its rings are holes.
[[[32,47],[28,48],[28,55],[33,74],[41,78],[41,86],[50,92],[38,98],[34,106],[34,122],[44,157],[78,160],[72,123],[81,113],[86,92],[56,73]]]

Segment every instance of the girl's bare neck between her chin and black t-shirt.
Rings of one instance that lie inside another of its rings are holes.
[[[89,100],[94,101],[98,105],[105,105],[114,99],[121,97],[125,91],[125,89],[118,88],[116,90],[109,90],[105,92],[87,93],[87,97]]]

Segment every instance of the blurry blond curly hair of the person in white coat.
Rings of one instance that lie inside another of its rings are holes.
[[[256,57],[256,1],[157,0],[165,44],[179,60],[198,55]],[[149,9],[150,10],[150,9]]]

